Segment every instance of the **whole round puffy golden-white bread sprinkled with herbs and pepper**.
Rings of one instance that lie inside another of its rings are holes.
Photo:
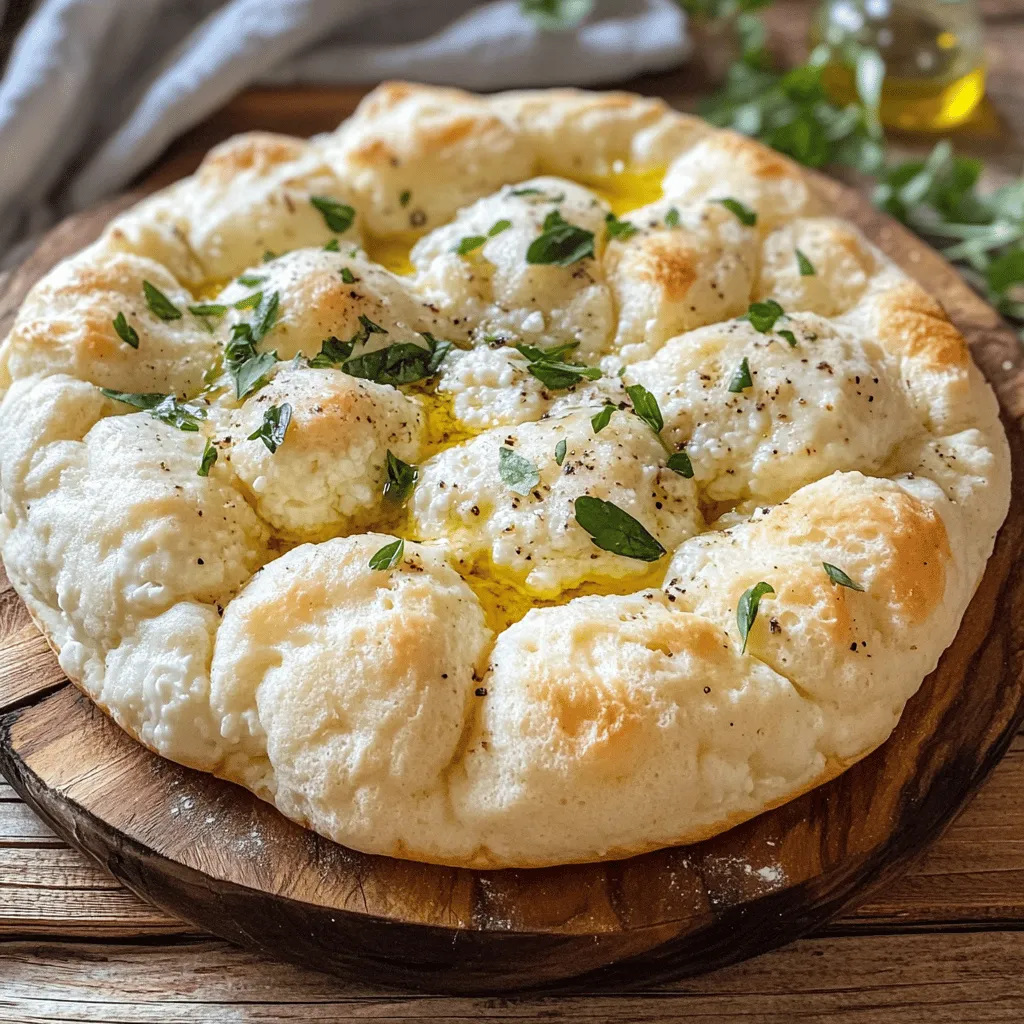
[[[0,545],[68,675],[445,864],[693,842],[843,771],[1009,504],[941,306],[790,161],[623,93],[389,83],[229,140],[36,285],[0,390]]]

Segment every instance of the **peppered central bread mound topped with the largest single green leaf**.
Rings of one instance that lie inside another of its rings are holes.
[[[489,562],[538,597],[587,581],[644,575],[645,562],[594,547],[575,520],[575,499],[613,502],[672,549],[703,526],[696,488],[660,465],[665,453],[646,424],[620,411],[595,434],[596,411],[496,427],[428,459],[413,495],[417,534],[443,545],[456,564]],[[537,467],[527,494],[503,480],[503,449]]]

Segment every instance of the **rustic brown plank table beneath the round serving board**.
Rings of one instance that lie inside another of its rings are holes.
[[[1021,173],[1024,158],[1024,2],[982,6],[990,102],[958,133],[957,145],[983,156],[998,178]],[[779,48],[791,58],[800,54],[806,18],[799,0],[771,12]],[[692,106],[708,74],[697,61],[627,84]],[[251,90],[179,140],[154,176],[186,173],[210,144],[236,131],[331,127],[357,95]],[[571,997],[417,996],[243,952],[140,902],[60,843],[0,780],[0,1021],[941,1024],[1016,1022],[1022,1006],[1024,734],[909,873],[822,932],[702,978]]]

